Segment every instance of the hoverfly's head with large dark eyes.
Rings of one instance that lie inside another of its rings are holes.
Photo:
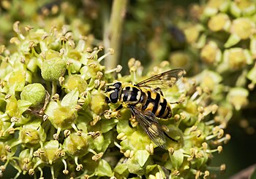
[[[113,85],[109,86],[106,90],[107,97],[106,101],[107,103],[117,103],[119,99],[119,93],[121,90],[121,82],[116,82]]]

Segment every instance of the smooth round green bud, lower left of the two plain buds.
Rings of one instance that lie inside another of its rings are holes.
[[[34,83],[28,84],[20,93],[21,100],[27,100],[31,103],[31,107],[39,106],[40,103],[45,101],[45,87],[42,84]]]

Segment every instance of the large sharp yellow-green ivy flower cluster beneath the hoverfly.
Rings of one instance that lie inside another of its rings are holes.
[[[14,178],[43,178],[46,168],[52,178],[211,175],[209,161],[230,139],[220,120],[225,112],[213,98],[222,89],[221,77],[185,76],[163,90],[169,102],[182,101],[172,105],[170,119],[159,119],[167,134],[178,138],[167,140],[163,149],[140,125],[132,125],[129,110],[104,116],[116,107],[106,103],[105,87],[113,81],[136,83],[169,70],[170,63],[164,61],[143,76],[142,65],[132,58],[129,75],[122,76],[121,65],[110,70],[102,65],[113,49],[104,54],[104,47],[92,47],[84,36],[75,38],[67,25],[62,31],[45,31],[16,22],[13,29],[15,50],[0,47],[1,175],[9,165],[17,170]]]

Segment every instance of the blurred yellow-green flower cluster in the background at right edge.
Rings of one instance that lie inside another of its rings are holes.
[[[217,120],[227,123],[237,119],[245,132],[254,133],[250,121],[255,106],[251,98],[256,75],[255,1],[210,0],[190,9],[195,23],[184,25],[187,54],[193,56],[190,70],[197,69],[194,73],[200,86],[215,94],[212,100],[219,106]]]

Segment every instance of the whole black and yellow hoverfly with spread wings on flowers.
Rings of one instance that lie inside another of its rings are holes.
[[[172,116],[171,103],[167,102],[159,87],[151,86],[172,87],[184,73],[183,69],[178,68],[151,76],[134,85],[116,82],[106,90],[106,100],[108,103],[121,103],[113,111],[119,111],[123,107],[129,108],[132,117],[145,130],[148,137],[157,146],[165,148],[165,136],[167,138],[170,136],[162,130],[157,118],[168,119]],[[111,111],[107,112],[110,113]],[[173,138],[170,140],[177,142]]]

